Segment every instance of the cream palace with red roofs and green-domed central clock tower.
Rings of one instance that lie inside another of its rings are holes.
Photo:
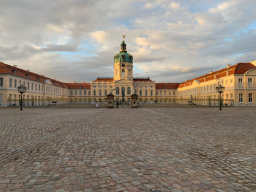
[[[91,83],[65,83],[0,62],[0,107],[19,106],[17,87],[27,87],[23,105],[105,104],[112,93],[115,101],[130,103],[138,95],[139,104],[197,104],[218,106],[216,86],[225,86],[224,106],[256,106],[256,61],[227,65],[219,71],[182,83],[156,83],[150,77],[133,77],[133,56],[121,43],[114,56],[113,77],[97,77]]]

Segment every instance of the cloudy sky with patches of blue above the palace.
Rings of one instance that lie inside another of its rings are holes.
[[[256,60],[255,0],[0,1],[0,61],[62,82],[113,77],[122,34],[134,77],[184,82]]]

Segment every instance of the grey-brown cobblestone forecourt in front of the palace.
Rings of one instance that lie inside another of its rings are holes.
[[[0,109],[0,191],[256,191],[256,108]]]

